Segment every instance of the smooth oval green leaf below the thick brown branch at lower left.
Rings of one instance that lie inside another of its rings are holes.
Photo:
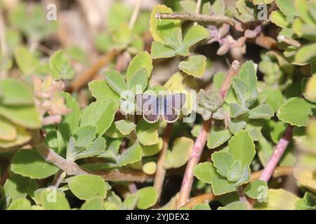
[[[93,197],[106,197],[105,181],[102,177],[82,174],[67,179],[72,193],[80,200],[90,200]]]

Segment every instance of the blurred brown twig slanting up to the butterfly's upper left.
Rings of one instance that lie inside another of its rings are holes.
[[[88,68],[84,73],[77,78],[77,80],[74,80],[68,87],[67,92],[73,92],[75,90],[80,90],[81,87],[86,85],[88,81],[96,77],[98,71],[102,69],[104,66],[112,62],[112,60],[119,55],[121,51],[120,50],[110,50],[107,52],[106,55],[98,59],[98,62],[96,64],[93,64],[90,68]]]

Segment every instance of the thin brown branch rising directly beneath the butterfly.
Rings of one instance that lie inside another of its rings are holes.
[[[162,186],[164,185],[164,178],[166,176],[166,169],[164,169],[164,162],[166,160],[166,153],[168,151],[169,139],[172,131],[172,123],[167,123],[166,130],[164,130],[164,139],[162,145],[162,151],[159,153],[157,162],[157,171],[154,176],[154,188],[157,190],[158,201],[162,195]]]

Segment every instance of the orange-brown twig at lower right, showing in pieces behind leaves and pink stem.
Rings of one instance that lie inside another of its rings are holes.
[[[277,167],[275,172],[273,173],[273,177],[277,178],[279,176],[286,176],[291,174],[293,171],[293,167]],[[258,180],[263,173],[263,170],[258,172],[254,172],[251,174],[251,181]],[[203,204],[205,202],[211,202],[216,200],[218,196],[214,195],[213,193],[205,193],[203,195],[199,195],[196,197],[191,197],[190,201],[183,205],[183,207],[187,209],[192,209],[196,204]]]

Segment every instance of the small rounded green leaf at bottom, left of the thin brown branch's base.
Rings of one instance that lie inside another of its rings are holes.
[[[156,204],[158,199],[157,190],[154,187],[142,188],[136,194],[138,195],[138,209],[148,209]]]

